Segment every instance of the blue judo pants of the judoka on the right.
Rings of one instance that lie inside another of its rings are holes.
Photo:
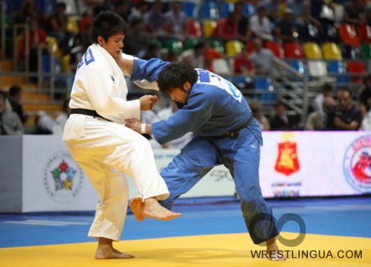
[[[248,233],[255,244],[278,236],[272,209],[262,197],[259,184],[260,144],[248,127],[237,138],[200,137],[183,147],[161,171],[170,192],[160,201],[168,209],[188,192],[211,168],[223,164],[230,170],[241,201],[241,211]]]

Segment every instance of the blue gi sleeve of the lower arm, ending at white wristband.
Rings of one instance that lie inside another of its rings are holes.
[[[160,144],[175,140],[189,131],[200,129],[216,107],[212,96],[202,92],[191,92],[186,105],[177,110],[172,117],[152,124],[152,134]]]

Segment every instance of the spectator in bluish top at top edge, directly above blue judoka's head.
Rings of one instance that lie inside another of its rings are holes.
[[[183,41],[187,36],[187,15],[182,10],[180,1],[173,1],[171,10],[165,13],[165,31],[167,36]]]

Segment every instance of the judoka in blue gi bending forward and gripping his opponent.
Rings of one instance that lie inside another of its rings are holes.
[[[169,94],[181,106],[168,120],[153,124],[127,120],[127,127],[139,133],[152,133],[160,144],[189,131],[195,133],[195,138],[160,173],[170,192],[169,199],[160,201],[162,205],[171,209],[174,201],[211,168],[223,164],[235,181],[253,242],[265,241],[268,252],[276,252],[275,237],[279,233],[259,185],[262,133],[239,89],[219,75],[182,62],[119,59],[118,64],[132,73],[132,80],[157,81],[160,92]],[[133,201],[131,207],[137,219],[144,219],[140,215],[141,202]]]

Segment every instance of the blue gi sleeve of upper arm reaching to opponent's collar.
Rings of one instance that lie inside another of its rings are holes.
[[[169,62],[163,62],[161,59],[134,59],[134,68],[131,80],[148,80],[157,82],[158,76]]]

